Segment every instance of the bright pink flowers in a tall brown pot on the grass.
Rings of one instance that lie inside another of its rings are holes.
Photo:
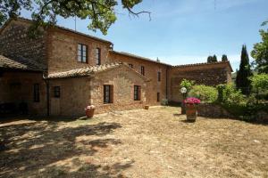
[[[183,101],[186,105],[186,117],[190,122],[196,122],[197,119],[197,105],[200,103],[200,100],[197,98],[187,98]]]

